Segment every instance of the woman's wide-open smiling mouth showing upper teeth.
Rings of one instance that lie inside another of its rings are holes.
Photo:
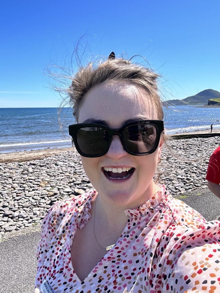
[[[126,170],[124,171],[124,169]],[[105,174],[105,176],[109,179],[122,180],[122,179],[127,179],[131,177],[131,175],[135,171],[135,168],[133,167],[126,167],[126,168],[102,167],[101,170]]]

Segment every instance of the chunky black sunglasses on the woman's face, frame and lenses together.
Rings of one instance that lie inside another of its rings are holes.
[[[118,135],[128,154],[144,156],[158,147],[163,120],[138,120],[126,123],[119,129],[111,129],[97,123],[69,125],[69,134],[78,153],[84,157],[101,157],[109,150],[113,135]]]

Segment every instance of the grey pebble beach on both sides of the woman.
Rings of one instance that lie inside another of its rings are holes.
[[[218,136],[171,139],[158,183],[173,197],[207,188],[209,157],[219,143]],[[93,189],[73,148],[0,154],[0,162],[0,235],[40,224],[56,201]]]

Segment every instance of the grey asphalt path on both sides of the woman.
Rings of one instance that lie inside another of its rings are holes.
[[[220,199],[208,188],[184,193],[186,195],[179,199],[196,209],[207,221],[220,217]],[[7,232],[0,239],[0,292],[34,293],[39,240],[40,225]]]

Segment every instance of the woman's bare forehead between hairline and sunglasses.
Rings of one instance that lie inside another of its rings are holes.
[[[108,81],[91,88],[83,97],[78,122],[89,118],[120,127],[128,119],[158,119],[158,115],[144,88],[125,81]]]

